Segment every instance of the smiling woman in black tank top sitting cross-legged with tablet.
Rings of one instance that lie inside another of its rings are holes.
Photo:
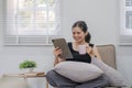
[[[97,51],[97,47],[94,44],[89,43],[91,36],[88,32],[87,24],[84,21],[77,21],[72,29],[73,38],[75,40],[75,42],[68,43],[69,50],[74,57],[72,61],[91,63],[92,56],[96,56],[98,59],[100,59],[100,55]],[[78,52],[79,45],[86,45],[86,54],[79,54]],[[56,47],[54,50],[54,55],[56,57],[54,66],[61,62],[64,62],[59,57],[61,54],[62,50],[59,47]],[[48,72],[46,74],[46,78],[52,86],[57,88],[103,88],[109,85],[105,76],[100,76],[97,79],[86,82],[75,82],[68,78],[61,76],[54,70]]]

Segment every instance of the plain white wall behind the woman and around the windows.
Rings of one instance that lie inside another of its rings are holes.
[[[116,45],[118,69],[131,84],[132,70],[130,65],[132,63],[132,46],[118,45],[120,30],[119,1],[62,0],[62,29],[66,40],[72,41],[72,24],[77,20],[86,21],[95,44]],[[6,47],[2,45],[2,30],[0,28],[0,73],[20,73],[18,65],[26,58],[37,62],[37,70],[50,70],[52,68],[54,59],[53,46]],[[37,85],[35,87],[37,88]]]

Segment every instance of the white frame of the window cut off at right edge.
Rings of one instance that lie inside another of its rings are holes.
[[[125,12],[132,11],[125,7],[125,0],[120,0],[120,38],[119,45],[132,45],[132,29],[125,28]]]

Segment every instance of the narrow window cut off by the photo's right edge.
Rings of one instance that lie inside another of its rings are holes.
[[[121,45],[132,45],[132,0],[121,0]]]

